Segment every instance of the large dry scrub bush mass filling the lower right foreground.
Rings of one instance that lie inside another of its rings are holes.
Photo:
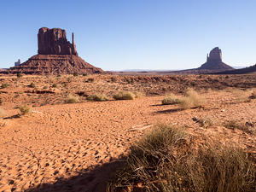
[[[255,191],[256,168],[241,148],[205,145],[193,150],[189,135],[158,125],[131,146],[107,191]]]

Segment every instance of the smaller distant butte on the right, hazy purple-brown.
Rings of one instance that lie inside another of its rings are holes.
[[[207,62],[202,64],[201,67],[197,68],[197,70],[224,72],[228,70],[234,70],[234,68],[230,67],[222,61],[221,49],[216,47],[211,50],[209,55],[207,55]]]

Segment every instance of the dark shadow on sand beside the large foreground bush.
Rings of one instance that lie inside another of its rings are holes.
[[[96,166],[89,172],[80,172],[78,176],[59,178],[55,183],[44,183],[26,192],[105,192],[113,172],[124,160],[114,160],[102,166]]]

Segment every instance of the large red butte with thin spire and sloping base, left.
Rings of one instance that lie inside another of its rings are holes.
[[[72,34],[72,44],[66,31],[42,27],[38,31],[38,55],[33,55],[20,66],[10,67],[8,73],[71,74],[104,73],[79,57]]]

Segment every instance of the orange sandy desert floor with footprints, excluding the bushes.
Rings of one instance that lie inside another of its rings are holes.
[[[255,76],[112,77],[2,77],[8,86],[0,90],[0,191],[104,191],[131,144],[158,123],[183,127],[199,143],[216,140],[255,155],[254,133],[224,127],[224,122],[236,120],[255,129],[256,99],[248,100]],[[35,87],[27,86],[32,82]],[[181,96],[191,86],[207,101],[203,108],[161,105],[168,93]],[[145,96],[85,99],[97,92],[110,97],[117,90],[142,91]],[[65,103],[68,94],[81,102]],[[32,112],[17,115],[22,103],[32,106]],[[210,119],[212,125],[202,127],[193,118]]]

